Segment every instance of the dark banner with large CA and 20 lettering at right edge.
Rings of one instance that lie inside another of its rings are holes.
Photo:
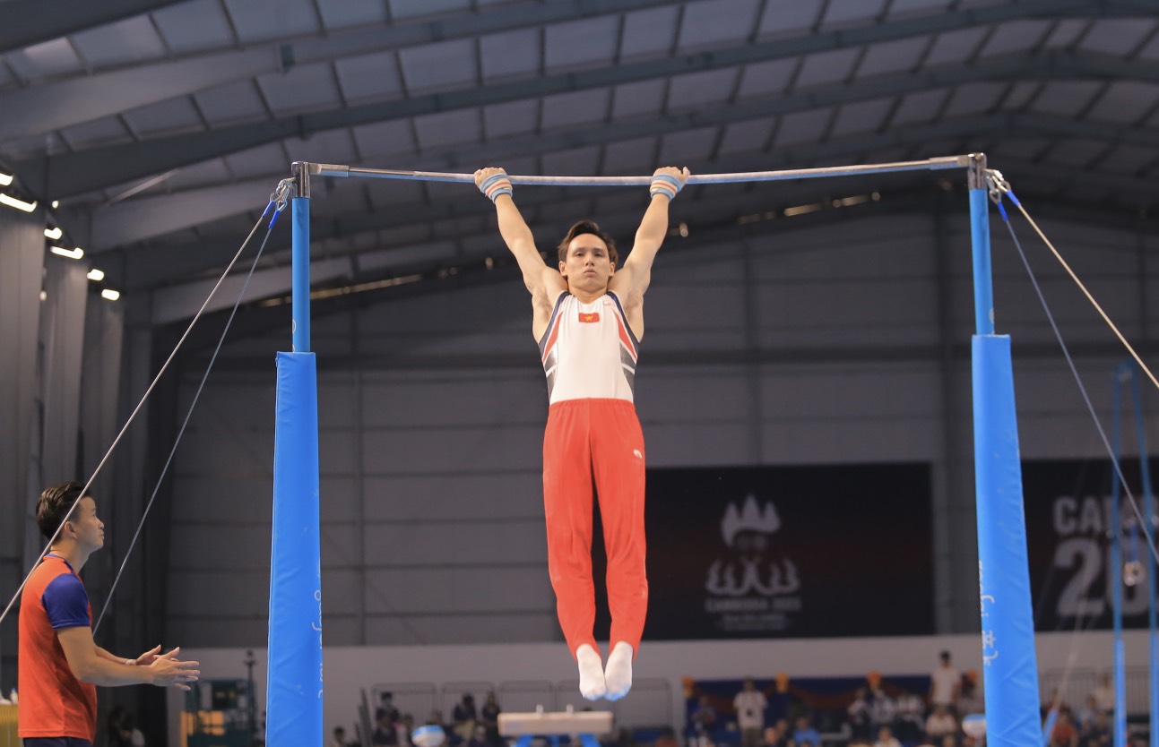
[[[1151,473],[1159,461],[1151,460]],[[1139,462],[1122,460],[1127,484],[1143,510]],[[1110,460],[1052,460],[1022,462],[1027,547],[1035,629],[1041,631],[1110,629]],[[1125,492],[1122,496],[1123,562],[1140,558],[1147,567],[1143,532],[1130,539],[1136,522]],[[1130,571],[1124,578],[1130,577]],[[1147,583],[1139,577],[1123,587],[1123,625],[1147,624]]]

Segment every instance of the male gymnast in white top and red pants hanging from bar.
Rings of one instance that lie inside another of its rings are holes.
[[[560,243],[556,270],[535,248],[506,173],[475,171],[475,184],[495,203],[500,234],[531,293],[531,329],[547,374],[549,402],[544,434],[547,567],[560,627],[580,667],[580,693],[589,701],[615,701],[632,688],[632,660],[648,611],[644,440],[633,386],[653,261],[668,234],[668,204],[687,180],[687,169],[672,167],[653,175],[648,210],[622,266],[617,266],[612,237],[582,220]],[[612,613],[606,667],[592,634],[593,482],[607,545]]]

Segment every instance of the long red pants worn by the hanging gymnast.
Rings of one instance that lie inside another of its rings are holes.
[[[593,485],[595,483],[595,485]],[[644,438],[626,400],[564,400],[551,407],[544,434],[547,570],[571,656],[596,647],[591,578],[592,488],[607,548],[611,644],[640,651],[648,614],[644,571]]]

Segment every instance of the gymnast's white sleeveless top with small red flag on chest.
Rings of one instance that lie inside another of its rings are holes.
[[[539,340],[548,402],[632,402],[639,345],[614,293],[582,303],[567,291],[561,292]]]

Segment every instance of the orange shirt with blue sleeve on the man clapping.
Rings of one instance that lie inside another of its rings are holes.
[[[96,737],[96,687],[76,679],[57,631],[93,625],[93,607],[68,562],[46,555],[20,598],[20,737]]]

